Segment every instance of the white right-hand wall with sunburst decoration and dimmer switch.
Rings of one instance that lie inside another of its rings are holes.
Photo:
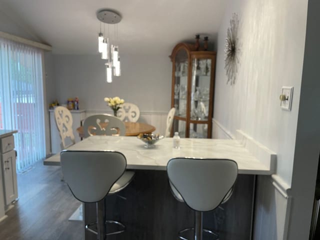
[[[233,12],[240,51],[230,86],[223,49]],[[213,137],[240,129],[277,154],[276,174],[257,178],[253,239],[287,239],[306,13],[307,0],[229,0],[218,32]],[[279,106],[281,86],[294,87],[291,111]]]

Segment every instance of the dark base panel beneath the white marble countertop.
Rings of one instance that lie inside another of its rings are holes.
[[[203,227],[217,232],[220,240],[249,240],[253,194],[254,175],[239,174],[230,199],[203,213]],[[85,224],[95,219],[94,203],[85,203],[84,215]],[[126,227],[108,240],[175,240],[179,230],[194,226],[194,211],[173,197],[165,171],[136,170],[129,186],[106,197],[106,219]],[[85,239],[96,235],[86,231]]]

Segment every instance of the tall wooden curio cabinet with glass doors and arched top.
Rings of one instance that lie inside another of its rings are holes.
[[[198,38],[197,38],[198,39]],[[216,52],[196,44],[178,43],[172,61],[171,106],[176,108],[171,136],[211,137]]]

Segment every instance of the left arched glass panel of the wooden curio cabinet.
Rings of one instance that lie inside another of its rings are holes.
[[[177,52],[174,61],[174,107],[175,115],[186,118],[188,83],[188,55],[184,49]]]

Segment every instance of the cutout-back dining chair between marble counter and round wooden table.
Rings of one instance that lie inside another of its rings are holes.
[[[100,123],[106,123],[101,126]],[[84,137],[92,135],[125,135],[125,125],[118,117],[109,114],[96,114],[88,116],[83,122]]]

